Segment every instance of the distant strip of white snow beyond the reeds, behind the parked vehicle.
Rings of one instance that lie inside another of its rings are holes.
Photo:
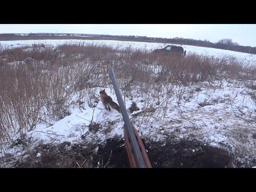
[[[118,48],[124,48],[131,46],[136,49],[145,49],[145,50],[154,50],[156,48],[164,48],[168,44],[163,43],[150,43],[150,42],[129,42],[129,41],[115,41],[115,40],[18,40],[18,41],[0,41],[0,44],[3,48],[14,48],[18,46],[32,45],[32,44],[41,44],[43,43],[46,46],[56,46],[59,44],[72,43],[72,44],[97,44],[97,45],[107,45]],[[255,64],[256,55],[248,54],[242,52],[235,52],[230,50],[215,49],[215,48],[206,48],[199,46],[190,46],[182,45],[184,50],[187,53],[196,53],[200,55],[214,56],[214,57],[236,57],[243,62],[248,64]]]

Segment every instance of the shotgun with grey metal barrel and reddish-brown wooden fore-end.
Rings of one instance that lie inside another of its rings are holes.
[[[144,148],[144,145],[142,143],[142,140],[140,139],[140,136],[138,135],[138,132],[132,125],[130,118],[128,116],[128,113],[126,111],[126,107],[124,105],[124,101],[122,99],[122,95],[119,89],[119,86],[116,82],[116,77],[113,72],[112,68],[109,68],[109,74],[114,86],[114,90],[116,92],[116,97],[120,106],[120,110],[124,119],[124,135],[126,144],[126,150],[128,153],[130,165],[132,168],[151,168],[151,164],[149,162],[148,156],[146,154],[146,150]],[[126,137],[128,136],[128,141]],[[132,162],[132,159],[135,162]]]

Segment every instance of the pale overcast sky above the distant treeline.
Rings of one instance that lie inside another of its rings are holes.
[[[231,38],[256,46],[256,24],[0,24],[0,33],[87,33],[193,38],[217,42]]]

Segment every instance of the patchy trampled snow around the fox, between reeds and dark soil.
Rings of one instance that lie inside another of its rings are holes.
[[[184,89],[188,91],[185,96],[187,100],[177,104],[174,94],[168,102],[164,119],[160,118],[158,114],[160,108],[155,103],[152,107],[156,108],[156,112],[147,123],[143,123],[140,116],[136,117],[136,113],[146,108],[146,103],[143,102],[145,98],[140,96],[130,98],[132,100],[126,98],[126,108],[134,101],[140,109],[129,113],[129,116],[135,122],[134,125],[141,137],[145,140],[162,142],[168,138],[174,138],[176,142],[181,139],[196,139],[227,150],[236,155],[236,160],[242,164],[256,166],[251,164],[252,160],[256,159],[256,105],[244,88],[224,82],[219,90],[204,88],[202,85],[200,91],[191,94],[190,88],[184,87]],[[117,102],[109,88],[106,88],[106,92]],[[61,144],[68,141],[77,144],[86,141],[100,144],[108,138],[124,138],[124,122],[122,115],[116,110],[111,109],[109,112],[104,109],[101,101],[96,103],[95,108],[90,108],[86,103],[82,107],[84,109],[71,106],[69,110],[71,115],[57,122],[50,122],[52,126],[44,123],[36,125],[36,128],[26,135],[26,138],[31,138],[31,144],[26,148],[32,149],[40,143]],[[92,122],[97,124],[96,129],[89,128]],[[6,150],[6,153],[19,156],[25,154],[26,150],[23,145],[18,145]]]

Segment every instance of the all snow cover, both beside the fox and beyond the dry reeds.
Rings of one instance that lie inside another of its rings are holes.
[[[86,43],[108,45],[119,48],[131,46],[132,48],[153,50],[162,48],[165,44],[146,43],[146,42],[123,42],[110,40],[24,40],[24,41],[2,41],[4,48],[13,48],[17,46],[41,44],[46,46],[56,46],[64,43]],[[255,64],[256,56],[228,50],[213,48],[204,48],[197,46],[183,46],[188,53],[223,57],[235,56],[240,60],[245,60],[250,64]],[[255,82],[254,82],[255,83]],[[168,98],[166,95],[162,98],[150,98],[149,95],[134,94],[132,98],[126,98],[125,104],[128,109],[132,102],[136,102],[139,111],[129,112],[130,119],[134,122],[140,136],[145,140],[163,141],[168,138],[174,138],[177,142],[182,139],[196,139],[210,146],[222,148],[233,154],[235,160],[246,166],[256,166],[256,103],[250,96],[247,87],[241,87],[231,82],[224,81],[218,88],[209,88],[198,84],[200,89],[191,87],[176,87],[174,94]],[[99,93],[102,88],[97,88]],[[117,102],[116,96],[110,88],[105,88],[114,102]],[[184,92],[182,99],[178,102],[179,92]],[[22,154],[26,149],[33,148],[39,143],[56,144],[68,141],[72,144],[81,142],[101,143],[108,138],[124,138],[122,115],[116,110],[108,111],[100,100],[94,102],[95,107],[90,107],[84,102],[80,108],[77,105],[71,105],[69,116],[59,121],[51,121],[48,124],[43,122],[37,124],[34,130],[27,132],[26,138],[31,142],[28,146],[23,145],[8,148],[2,153],[18,156],[16,160],[27,158]],[[74,95],[72,100],[77,100]],[[143,114],[144,110],[154,108],[154,114],[147,116]],[[118,102],[117,102],[118,103]],[[163,115],[162,103],[166,103],[165,115]],[[178,104],[179,103],[179,104]],[[138,115],[136,115],[138,113]],[[146,120],[145,120],[146,118]],[[52,124],[52,125],[49,125]],[[96,128],[90,125],[96,124]],[[16,140],[16,138],[13,138]],[[40,151],[37,151],[37,157],[40,158]],[[15,159],[15,158],[14,158]],[[254,161],[253,161],[254,160]],[[1,165],[2,166],[2,165]],[[234,165],[235,166],[235,165]],[[7,166],[8,167],[8,166]]]

